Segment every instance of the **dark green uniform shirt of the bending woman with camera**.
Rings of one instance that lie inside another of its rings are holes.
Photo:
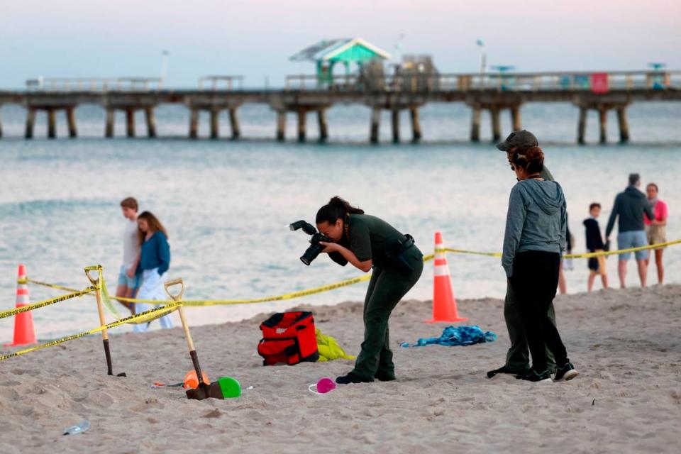
[[[406,236],[396,228],[370,214],[350,214],[348,236],[349,240],[344,236],[340,243],[352,250],[360,262],[381,258],[394,248],[398,240],[406,240]],[[340,253],[331,253],[329,256],[340,265],[348,263]]]

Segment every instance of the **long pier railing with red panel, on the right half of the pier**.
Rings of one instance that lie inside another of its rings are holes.
[[[291,90],[387,90],[390,92],[607,92],[609,90],[681,89],[681,72],[538,72],[492,74],[390,74],[365,77],[362,74],[319,79],[314,75],[286,78]]]

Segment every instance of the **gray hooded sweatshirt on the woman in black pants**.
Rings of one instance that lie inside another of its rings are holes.
[[[511,189],[502,266],[506,276],[513,276],[516,253],[541,250],[562,253],[565,250],[567,205],[560,184],[525,179]]]

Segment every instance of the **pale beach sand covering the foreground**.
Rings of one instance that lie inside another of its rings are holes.
[[[430,303],[403,302],[391,324],[399,380],[323,396],[308,384],[352,362],[262,367],[265,316],[192,331],[209,376],[254,387],[231,400],[151,389],[191,368],[179,328],[112,336],[114,372],[126,378],[106,375],[101,338],[78,339],[0,363],[0,452],[679,453],[680,301],[681,286],[558,297],[560,333],[581,375],[551,384],[485,377],[509,345],[497,299],[459,301],[497,342],[409,349],[397,343],[445,325],[423,323]],[[357,352],[360,304],[311,309],[324,333]],[[61,435],[82,418],[87,433]]]

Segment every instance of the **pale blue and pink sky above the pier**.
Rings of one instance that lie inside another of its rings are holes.
[[[489,65],[516,70],[681,70],[681,1],[669,0],[1,0],[0,89],[28,78],[160,74],[195,87],[206,74],[240,74],[260,87],[323,38],[365,38],[395,54],[433,56],[440,72]]]

